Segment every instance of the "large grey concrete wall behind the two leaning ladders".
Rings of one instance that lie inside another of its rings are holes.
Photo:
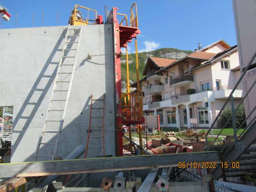
[[[12,163],[28,162],[33,159],[50,102],[62,48],[65,46],[66,32],[67,26],[0,30],[1,44],[4,45],[0,47],[0,106],[14,107]],[[91,25],[83,28],[57,156],[65,158],[78,145],[86,146],[92,94],[93,99],[106,95],[105,151],[106,155],[115,156],[113,55],[93,56],[91,60],[87,58],[88,53],[113,53],[112,39],[112,25]],[[63,107],[64,104],[61,105]],[[95,131],[91,134],[100,133]],[[55,137],[50,137],[49,142],[55,142]],[[102,138],[94,142],[90,139],[89,144],[97,145],[101,140]],[[43,146],[42,150],[45,154],[49,151],[46,146]],[[101,149],[91,149],[87,157],[100,155],[103,155]]]

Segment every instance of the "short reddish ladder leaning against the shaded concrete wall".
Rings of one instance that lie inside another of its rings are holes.
[[[95,101],[93,103],[93,101]],[[94,106],[96,105],[97,108],[93,108],[92,105],[94,104]],[[103,112],[102,112],[103,110]],[[95,113],[93,113],[92,111],[95,111]],[[94,115],[97,114],[96,116],[92,116],[92,113]],[[100,116],[100,114],[102,114],[102,116]],[[88,148],[103,148],[103,156],[105,157],[105,144],[104,144],[104,116],[105,116],[105,94],[103,95],[103,99],[93,99],[93,94],[92,94],[92,98],[91,98],[91,111],[90,111],[90,123],[89,123],[89,129],[88,129],[88,139],[87,139],[87,145],[86,145],[86,150],[85,150],[85,156],[84,158],[86,158],[87,156],[87,152],[88,152]],[[92,119],[96,119],[97,121],[92,122]],[[102,123],[100,122],[100,119],[102,119]],[[92,129],[91,129],[92,128]],[[98,129],[97,129],[98,128]],[[95,136],[91,136],[90,133],[94,132],[93,135]],[[102,132],[102,134],[100,134],[99,132]],[[94,141],[96,141],[97,144],[101,143],[102,141],[102,146],[89,146],[89,140],[90,138],[98,138],[94,139]],[[102,140],[99,140],[99,138],[102,138]]]

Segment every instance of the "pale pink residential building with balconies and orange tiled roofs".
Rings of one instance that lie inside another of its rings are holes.
[[[237,45],[221,39],[180,60],[148,57],[143,75],[145,116],[159,115],[162,127],[207,128],[240,77]],[[241,86],[233,94],[237,104]]]

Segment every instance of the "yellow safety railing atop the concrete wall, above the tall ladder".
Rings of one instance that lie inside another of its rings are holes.
[[[79,10],[79,13],[81,14],[81,20],[79,20],[78,18],[76,19],[76,14],[73,13],[72,14],[72,24],[73,25],[95,25],[96,24],[96,17],[97,17],[97,11],[93,10],[93,9],[89,9],[80,5],[75,5],[75,10]],[[87,13],[86,13],[87,11]],[[86,14],[86,17],[83,17],[82,12],[84,12]],[[89,13],[90,13],[90,19],[89,19]],[[91,16],[91,14],[93,14],[93,17]]]

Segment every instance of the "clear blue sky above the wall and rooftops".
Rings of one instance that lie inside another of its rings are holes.
[[[103,15],[104,5],[108,11],[112,7],[118,8],[118,13],[130,17],[133,3],[137,4],[138,24],[141,35],[138,36],[138,50],[152,51],[159,48],[177,48],[194,51],[198,43],[202,47],[220,39],[229,45],[236,45],[236,32],[231,0],[0,0],[1,6],[6,6],[11,13],[10,21],[2,19],[3,29],[15,28],[16,12],[18,24],[16,28],[30,28],[33,26],[35,13],[35,27],[42,26],[42,12],[44,12],[44,27],[56,26],[59,11],[59,26],[68,25],[70,10],[75,4],[95,9],[97,14]],[[129,52],[134,52],[134,41],[129,44]]]

